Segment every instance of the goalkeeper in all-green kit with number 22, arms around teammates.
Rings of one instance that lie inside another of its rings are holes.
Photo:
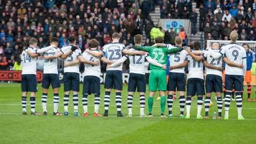
[[[163,43],[163,38],[156,37],[155,43]],[[164,45],[164,44],[163,44]],[[153,46],[134,46],[135,50],[148,52],[150,57],[156,60],[162,65],[167,63],[167,54],[180,52],[183,47],[153,47]],[[161,95],[161,117],[166,117],[164,115],[165,109],[165,91],[166,91],[166,71],[162,67],[157,67],[150,64],[150,75],[149,75],[149,98],[148,98],[148,111],[149,117],[153,117],[153,99],[156,91],[160,92]]]

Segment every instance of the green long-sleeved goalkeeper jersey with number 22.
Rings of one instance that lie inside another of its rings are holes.
[[[180,52],[183,47],[153,47],[153,46],[135,46],[134,49],[139,51],[145,51],[149,53],[149,56],[158,63],[166,65],[167,54]],[[150,69],[162,69],[161,67],[149,65]]]

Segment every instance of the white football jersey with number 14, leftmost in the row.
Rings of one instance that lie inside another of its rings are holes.
[[[36,52],[35,47],[28,47],[29,51]],[[22,75],[33,74],[36,75],[36,57],[32,58],[30,55],[24,51],[21,53],[21,65],[22,65]]]

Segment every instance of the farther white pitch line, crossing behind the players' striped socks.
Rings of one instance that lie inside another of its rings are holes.
[[[19,103],[0,103],[0,106],[21,106]],[[28,103],[27,106],[30,106]],[[36,104],[36,106],[42,106],[41,104]],[[48,104],[47,106],[53,106],[52,104]],[[64,105],[59,105],[59,106],[64,106]],[[68,106],[73,106],[73,105],[68,105]],[[83,107],[82,105],[79,107]],[[94,105],[88,105],[88,107],[94,107]],[[116,105],[110,105],[109,107],[116,107]],[[140,106],[132,106],[132,107],[140,107]],[[153,107],[160,107],[160,106],[153,106]],[[173,108],[180,108],[180,107],[173,107]],[[191,108],[197,108],[197,107],[191,107]],[[230,109],[236,109],[236,107],[230,107]],[[243,109],[252,109],[256,110],[256,108],[243,108]]]

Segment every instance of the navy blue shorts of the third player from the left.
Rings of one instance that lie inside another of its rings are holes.
[[[79,74],[78,73],[64,73],[64,91],[79,92]]]

